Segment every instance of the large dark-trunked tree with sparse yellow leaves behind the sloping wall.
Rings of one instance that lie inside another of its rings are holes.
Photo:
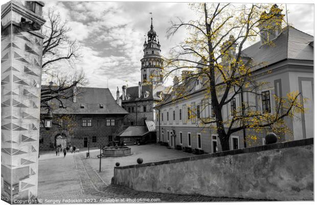
[[[268,86],[265,81],[258,80],[270,71],[257,73],[265,68],[267,62],[256,62],[243,53],[249,42],[261,36],[263,44],[274,46],[270,36],[282,31],[283,14],[276,5],[231,5],[231,4],[191,4],[198,15],[197,20],[171,22],[168,36],[181,28],[186,28],[190,36],[184,43],[173,48],[172,57],[166,59],[165,77],[175,71],[191,69],[187,78],[174,84],[175,99],[184,97],[184,91],[194,89],[196,83],[203,83],[205,103],[202,107],[212,106],[212,115],[202,118],[198,111],[191,108],[190,117],[198,117],[204,126],[214,128],[220,139],[223,151],[229,150],[230,135],[235,132],[252,130],[263,132],[266,129],[283,134],[288,132],[285,117],[294,117],[296,112],[304,112],[300,103],[300,93],[292,92],[287,96],[274,96],[276,106],[273,112],[257,111],[255,105],[243,100],[245,93],[263,97],[258,93]],[[269,9],[266,13],[265,10]],[[193,84],[192,82],[195,81]],[[192,88],[189,88],[192,86]],[[265,95],[265,94],[264,94]],[[235,97],[241,97],[241,106],[236,107]],[[231,105],[230,117],[223,116],[224,106]],[[234,105],[234,106],[232,106]],[[271,109],[271,108],[270,108]],[[255,139],[255,135],[250,135]],[[247,139],[244,138],[244,143]]]

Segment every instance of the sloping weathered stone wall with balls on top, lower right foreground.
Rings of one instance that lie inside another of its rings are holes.
[[[266,200],[313,200],[313,138],[116,167],[138,191]]]

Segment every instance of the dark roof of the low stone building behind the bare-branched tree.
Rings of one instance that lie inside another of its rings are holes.
[[[62,99],[66,108],[59,108],[59,101],[53,100],[57,107],[52,112],[55,114],[128,114],[120,107],[108,88],[77,87],[76,103],[73,98]],[[103,105],[103,108],[100,105]],[[81,105],[84,108],[81,108]],[[46,111],[43,111],[46,112]]]

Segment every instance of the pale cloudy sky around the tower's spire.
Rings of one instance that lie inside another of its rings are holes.
[[[141,80],[144,35],[153,26],[159,35],[163,55],[186,36],[178,32],[166,37],[169,21],[175,17],[193,19],[195,13],[188,3],[154,2],[44,2],[43,12],[58,11],[72,28],[70,36],[81,44],[82,58],[77,69],[82,69],[88,87],[108,87],[116,96],[117,86],[137,86]],[[313,5],[287,4],[288,22],[295,28],[313,35]],[[283,11],[285,12],[285,11]],[[49,79],[48,79],[49,80]]]

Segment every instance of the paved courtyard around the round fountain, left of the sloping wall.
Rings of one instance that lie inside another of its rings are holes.
[[[106,157],[101,161],[99,173],[99,150],[67,153],[56,156],[55,152],[40,153],[38,173],[38,199],[41,203],[105,203],[105,202],[164,202],[164,201],[237,201],[245,199],[207,196],[175,195],[140,192],[110,185],[115,163],[133,165],[138,158],[143,163],[186,157],[190,154],[167,149],[159,145],[130,146],[132,155]],[[144,201],[143,201],[144,202]]]

